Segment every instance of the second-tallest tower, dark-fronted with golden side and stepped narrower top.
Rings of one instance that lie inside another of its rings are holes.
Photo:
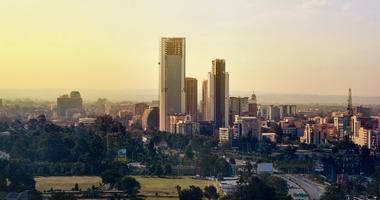
[[[229,75],[223,59],[212,61],[212,72],[208,80],[209,121],[215,122],[215,128],[229,126]]]

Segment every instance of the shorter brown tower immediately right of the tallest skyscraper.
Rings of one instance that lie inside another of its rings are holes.
[[[186,114],[191,115],[192,121],[197,121],[198,113],[198,81],[195,78],[185,79]]]

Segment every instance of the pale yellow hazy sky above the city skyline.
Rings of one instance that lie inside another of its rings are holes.
[[[0,88],[158,88],[161,36],[231,90],[380,95],[379,0],[3,0]]]

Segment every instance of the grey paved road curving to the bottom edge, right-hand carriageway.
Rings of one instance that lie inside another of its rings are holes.
[[[299,185],[310,196],[311,200],[319,200],[322,194],[325,192],[324,186],[315,183],[303,176],[284,174],[285,178]]]

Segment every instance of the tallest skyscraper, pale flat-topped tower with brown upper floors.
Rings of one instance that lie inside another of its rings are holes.
[[[160,130],[169,130],[169,116],[185,112],[185,38],[161,38]]]

